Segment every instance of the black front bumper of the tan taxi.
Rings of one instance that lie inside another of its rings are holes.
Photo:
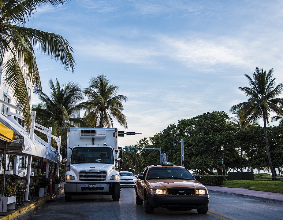
[[[168,196],[148,194],[148,202],[162,208],[203,208],[209,203],[209,195]]]

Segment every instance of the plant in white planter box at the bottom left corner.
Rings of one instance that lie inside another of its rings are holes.
[[[3,198],[3,188],[0,190],[1,200],[0,200],[0,211],[2,212],[2,203],[3,203],[3,212],[7,212],[8,209],[15,209],[16,207],[16,194],[17,187],[15,183],[8,185],[5,189],[4,198]]]

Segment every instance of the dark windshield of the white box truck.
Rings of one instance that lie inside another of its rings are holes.
[[[114,164],[113,150],[109,147],[74,147],[71,164],[76,163]]]

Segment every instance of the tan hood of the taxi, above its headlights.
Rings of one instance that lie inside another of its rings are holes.
[[[195,180],[147,180],[147,182],[156,187],[190,187],[190,188],[205,188],[200,182]]]

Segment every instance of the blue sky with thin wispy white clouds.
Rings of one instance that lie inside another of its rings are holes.
[[[282,1],[71,0],[38,8],[26,27],[63,36],[74,49],[75,72],[38,52],[44,93],[55,78],[87,88],[106,75],[128,101],[128,129],[118,138],[135,145],[170,124],[246,101],[238,87],[255,67],[274,69],[283,82]],[[33,102],[39,102],[34,97]],[[271,123],[272,124],[272,123]],[[278,123],[275,123],[278,125]]]

